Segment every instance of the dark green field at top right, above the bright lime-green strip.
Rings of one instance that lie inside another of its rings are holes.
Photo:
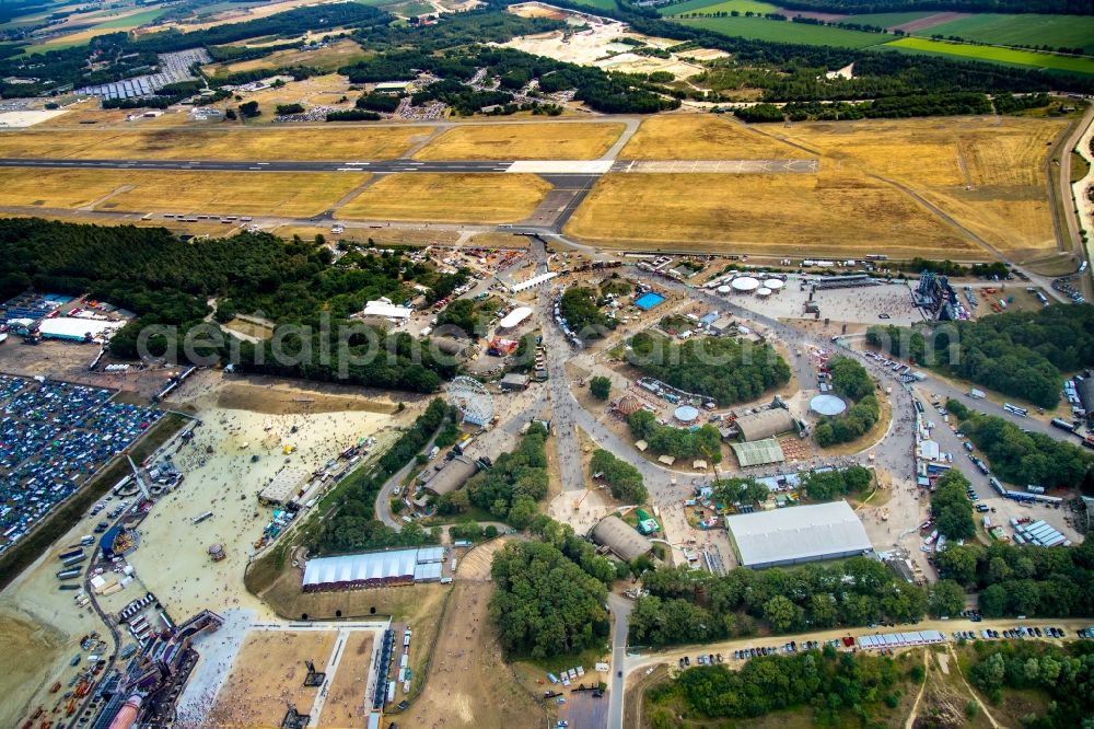
[[[966,40],[1004,46],[1082,48],[1094,54],[1094,16],[1091,15],[978,13],[917,31],[916,35],[955,35]]]

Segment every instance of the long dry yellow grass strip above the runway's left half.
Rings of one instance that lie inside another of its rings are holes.
[[[0,134],[0,157],[82,160],[388,160],[431,127],[158,129]]]

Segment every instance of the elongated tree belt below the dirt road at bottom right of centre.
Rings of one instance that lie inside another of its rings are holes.
[[[887,656],[821,652],[754,658],[741,670],[693,667],[650,692],[654,705],[678,699],[703,719],[748,719],[810,707],[814,725],[840,726],[845,710],[865,719],[895,706],[903,671]]]

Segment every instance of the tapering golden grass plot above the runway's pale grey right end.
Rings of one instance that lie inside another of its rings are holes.
[[[652,116],[619,153],[621,160],[782,160],[813,157],[738,121],[713,114]]]

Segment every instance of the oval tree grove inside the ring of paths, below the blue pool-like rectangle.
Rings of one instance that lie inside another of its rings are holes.
[[[630,363],[643,374],[710,397],[722,407],[756,400],[790,382],[790,367],[768,344],[717,337],[678,345],[651,332],[636,334],[629,344]]]

